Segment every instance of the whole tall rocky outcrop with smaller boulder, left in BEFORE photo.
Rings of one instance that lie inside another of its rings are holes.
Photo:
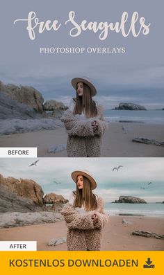
[[[33,87],[4,85],[0,81],[0,119],[60,119],[67,107],[56,100],[47,100]]]

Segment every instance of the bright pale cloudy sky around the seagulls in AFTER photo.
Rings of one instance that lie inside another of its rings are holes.
[[[54,192],[68,198],[71,191],[75,190],[71,173],[85,169],[97,181],[95,193],[106,202],[113,202],[120,195],[140,197],[147,202],[164,200],[163,158],[40,158],[38,166],[30,167],[31,162],[33,159],[1,159],[0,172],[3,177],[33,179],[42,186],[44,193]],[[112,171],[113,167],[119,165],[123,166],[119,172]]]

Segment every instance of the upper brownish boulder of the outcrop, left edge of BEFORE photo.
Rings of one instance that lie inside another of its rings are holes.
[[[43,112],[42,105],[44,99],[42,98],[42,94],[33,87],[16,86],[13,84],[3,85],[3,82],[0,82],[0,91],[3,91],[19,103],[33,107],[37,112]]]

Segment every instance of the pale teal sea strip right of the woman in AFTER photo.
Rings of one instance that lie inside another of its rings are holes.
[[[119,215],[126,213],[164,218],[164,204],[115,204],[106,202],[104,210],[108,215]]]

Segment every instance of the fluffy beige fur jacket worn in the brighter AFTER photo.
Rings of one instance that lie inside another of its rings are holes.
[[[72,251],[101,249],[101,229],[108,221],[108,215],[104,214],[104,203],[101,197],[97,199],[98,208],[96,211],[89,211],[85,215],[79,214],[72,204],[65,204],[61,214],[65,218],[68,227],[67,249]],[[92,214],[97,213],[96,224],[92,222]]]

